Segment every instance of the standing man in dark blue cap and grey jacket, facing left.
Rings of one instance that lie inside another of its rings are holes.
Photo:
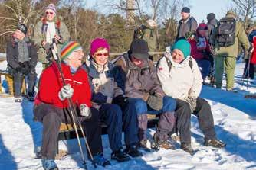
[[[190,16],[190,9],[188,7],[182,8],[181,16],[182,19],[179,21],[176,40],[185,38],[185,35],[189,32],[193,32],[197,28],[197,22],[195,18]]]

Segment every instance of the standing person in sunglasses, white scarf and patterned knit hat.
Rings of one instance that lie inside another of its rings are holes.
[[[34,37],[32,40],[38,47],[38,60],[45,69],[51,64],[50,45],[56,42],[57,49],[61,51],[61,44],[70,39],[67,26],[60,18],[57,18],[57,11],[54,4],[49,4],[45,8],[44,17],[34,27]]]

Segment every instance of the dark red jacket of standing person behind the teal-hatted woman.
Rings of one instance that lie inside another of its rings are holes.
[[[204,53],[203,51],[207,53],[211,53],[210,46],[208,43],[208,40],[205,38],[205,47],[198,47],[198,42],[196,41],[196,38],[192,38],[188,40],[191,46],[191,53],[190,56],[192,56],[194,59],[204,59]]]

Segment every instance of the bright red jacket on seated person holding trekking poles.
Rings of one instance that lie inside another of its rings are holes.
[[[61,63],[61,68],[65,83],[70,84],[74,89],[74,95],[72,96],[74,104],[77,104],[78,107],[80,104],[87,104],[88,107],[91,107],[91,93],[87,72],[84,69],[77,69],[77,72],[72,75],[70,66],[67,66],[65,63]],[[61,101],[58,97],[62,87],[60,72],[57,69],[57,64],[53,63],[41,74],[40,87],[34,104],[46,103],[60,108],[67,108],[67,99]]]

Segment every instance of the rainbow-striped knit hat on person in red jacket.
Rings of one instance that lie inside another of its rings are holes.
[[[71,53],[75,50],[82,49],[80,43],[76,41],[67,41],[61,47],[61,60],[67,59],[68,56],[71,56]]]

